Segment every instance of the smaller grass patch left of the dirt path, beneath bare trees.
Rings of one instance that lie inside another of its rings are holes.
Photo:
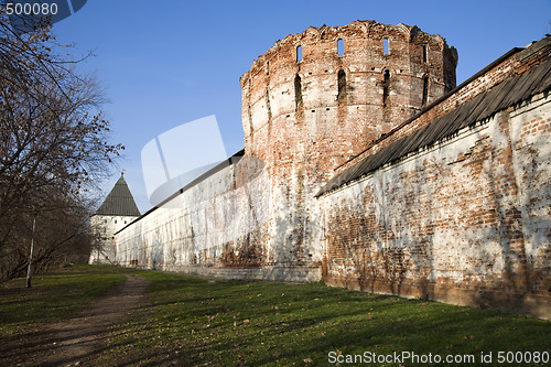
[[[122,282],[121,269],[79,266],[0,283],[0,337],[82,311],[93,299]]]

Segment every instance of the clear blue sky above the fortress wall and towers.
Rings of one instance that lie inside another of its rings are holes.
[[[551,33],[551,0],[88,0],[53,31],[62,43],[75,44],[75,56],[94,51],[80,69],[105,86],[112,141],[126,145],[112,177],[101,183],[104,196],[126,169],[140,211],[149,209],[141,149],[182,123],[216,115],[227,152],[241,149],[239,77],[252,61],[310,25],[358,19],[442,35],[458,51],[460,84],[510,48]]]

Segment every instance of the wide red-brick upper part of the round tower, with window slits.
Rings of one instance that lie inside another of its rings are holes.
[[[349,156],[350,142],[363,149],[453,89],[456,64],[442,36],[404,24],[355,21],[288,35],[240,78],[246,154],[268,159],[274,133],[305,123],[316,143],[323,131],[342,137],[332,155]]]

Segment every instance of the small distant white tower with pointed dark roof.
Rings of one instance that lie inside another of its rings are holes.
[[[114,234],[139,216],[140,211],[121,172],[120,179],[90,218],[97,242],[90,251],[89,263],[115,263]]]

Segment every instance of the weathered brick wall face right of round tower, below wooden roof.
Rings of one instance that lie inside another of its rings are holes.
[[[323,198],[325,281],[549,317],[549,97]]]

